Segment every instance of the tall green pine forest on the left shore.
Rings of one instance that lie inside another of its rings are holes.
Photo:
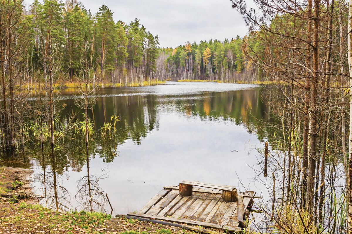
[[[75,0],[34,1],[29,9],[4,1],[1,12],[1,71],[12,74],[17,89],[46,85],[49,72],[58,69],[55,85],[78,87],[87,65],[100,86],[157,82],[158,35],[138,19],[115,22],[106,5],[92,13]]]

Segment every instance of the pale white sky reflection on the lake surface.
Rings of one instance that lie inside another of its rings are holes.
[[[203,90],[210,89],[209,85],[216,86],[215,89],[218,90],[227,84],[190,85],[204,85],[206,88],[203,87]],[[163,86],[160,89],[178,87]],[[186,87],[186,84],[180,87]],[[158,86],[152,88],[158,89]],[[252,167],[260,170],[255,147],[262,148],[263,143],[258,141],[257,135],[249,133],[244,124],[235,125],[227,120],[201,120],[198,115],[189,118],[185,113],[180,113],[173,102],[162,103],[156,111],[159,127],[151,130],[140,145],[131,139],[127,140],[118,147],[119,156],[112,163],[104,163],[99,155],[91,159],[91,175],[99,177],[108,172],[110,176],[100,180],[99,184],[104,193],[108,194],[116,214],[139,210],[164,186],[178,184],[181,180],[234,185],[243,191],[241,181],[249,190],[259,193],[263,189],[260,183],[251,179],[254,176]],[[234,153],[233,150],[238,152]],[[36,169],[40,173],[41,169]],[[77,181],[86,175],[86,169],[86,166],[80,172],[69,169],[62,180],[72,194],[71,205],[77,209],[80,208],[74,199]],[[40,186],[38,183],[34,185],[36,188]]]

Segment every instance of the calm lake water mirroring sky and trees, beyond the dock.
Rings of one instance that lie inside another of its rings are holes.
[[[100,178],[100,190],[108,195],[113,214],[139,210],[164,186],[181,180],[234,185],[265,196],[264,176],[254,178],[262,170],[257,148],[263,149],[270,131],[265,92],[257,85],[214,82],[103,88],[88,114],[97,134],[112,115],[119,116],[117,133],[89,143],[89,170],[86,147],[77,140],[62,143],[55,159],[34,147],[4,159],[7,165],[34,170],[34,190],[46,194],[42,203],[49,207],[56,196],[62,208],[82,209],[87,194],[80,186],[88,175],[92,189]],[[82,118],[77,98],[62,92],[61,117],[76,113]],[[51,187],[54,174],[56,195]],[[99,194],[93,196],[99,200]],[[109,213],[109,205],[104,207]]]

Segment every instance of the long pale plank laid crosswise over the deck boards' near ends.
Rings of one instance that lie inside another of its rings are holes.
[[[128,215],[136,216],[136,217],[142,217],[142,218],[150,218],[150,219],[158,219],[158,220],[165,220],[165,221],[171,221],[171,222],[178,222],[178,223],[186,223],[188,225],[197,225],[197,226],[202,226],[202,227],[205,227],[205,228],[216,228],[216,229],[220,228],[220,225],[218,225],[218,224],[200,222],[200,221],[195,221],[195,220],[177,219],[177,218],[173,218],[173,217],[147,215],[147,214],[140,214],[140,213],[128,213]],[[241,230],[241,228],[239,228],[239,227],[229,227],[229,226],[224,226],[224,227],[222,227],[222,229],[223,230],[228,230],[228,231],[231,231],[231,232],[239,232]]]

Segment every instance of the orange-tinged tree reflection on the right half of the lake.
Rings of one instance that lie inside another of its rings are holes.
[[[177,111],[190,118],[200,116],[201,120],[230,120],[246,126],[249,132],[255,132],[259,140],[263,140],[273,130],[270,122],[275,120],[268,117],[268,106],[263,99],[266,92],[268,90],[262,88],[207,92],[198,94],[195,98],[177,99],[175,103]]]

